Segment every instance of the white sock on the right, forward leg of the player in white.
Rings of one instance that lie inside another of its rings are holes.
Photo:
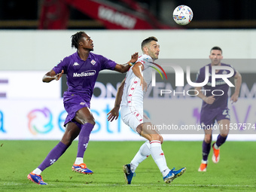
[[[169,173],[170,169],[166,165],[166,157],[163,154],[160,141],[151,141],[151,156],[160,169],[160,172],[163,174],[163,177],[165,177]]]

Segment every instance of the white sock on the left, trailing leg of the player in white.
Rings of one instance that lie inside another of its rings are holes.
[[[149,155],[151,154],[150,150],[150,144],[149,142],[143,143],[143,145],[139,148],[139,151],[133,157],[133,160],[131,161],[131,171],[135,172],[137,166],[139,166],[139,163],[142,163],[143,160],[145,160]]]

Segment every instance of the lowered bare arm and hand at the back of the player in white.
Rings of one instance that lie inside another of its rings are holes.
[[[114,102],[114,108],[112,108],[111,111],[108,112],[108,121],[113,121],[117,120],[119,117],[119,108],[120,108],[120,103],[122,101],[122,96],[123,96],[123,87],[124,87],[125,79],[123,79],[122,83],[117,89],[117,96],[115,97],[115,102]]]

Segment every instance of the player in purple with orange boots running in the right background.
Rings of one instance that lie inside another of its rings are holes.
[[[203,104],[200,112],[200,124],[204,129],[205,137],[203,139],[203,160],[201,162],[199,172],[206,172],[208,163],[208,156],[211,150],[212,143],[212,126],[215,121],[218,123],[220,134],[218,135],[217,141],[213,143],[212,150],[212,161],[218,163],[220,160],[220,147],[224,144],[227,139],[227,135],[230,130],[230,114],[229,108],[227,108],[229,85],[222,79],[216,78],[215,87],[212,86],[212,67],[213,66],[232,66],[221,63],[222,50],[220,47],[212,47],[209,59],[212,62],[207,65],[209,67],[209,80],[208,83],[203,87],[195,87],[197,96],[203,99]],[[242,77],[235,69],[233,78],[235,82],[235,91],[230,98],[231,102],[236,102],[239,97],[239,91],[242,83]],[[215,71],[216,75],[227,75],[230,72],[226,69],[219,69]],[[202,83],[206,78],[206,66],[201,68],[197,74],[197,83]],[[203,88],[203,92],[201,91]]]

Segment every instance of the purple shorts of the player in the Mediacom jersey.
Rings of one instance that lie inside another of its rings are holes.
[[[69,122],[73,122],[76,123],[76,125],[81,129],[81,123],[78,123],[75,120],[75,114],[81,108],[90,108],[90,102],[85,101],[83,97],[79,96],[78,94],[71,92],[64,93],[63,101],[64,108],[68,113],[64,126],[66,126],[66,124]]]

